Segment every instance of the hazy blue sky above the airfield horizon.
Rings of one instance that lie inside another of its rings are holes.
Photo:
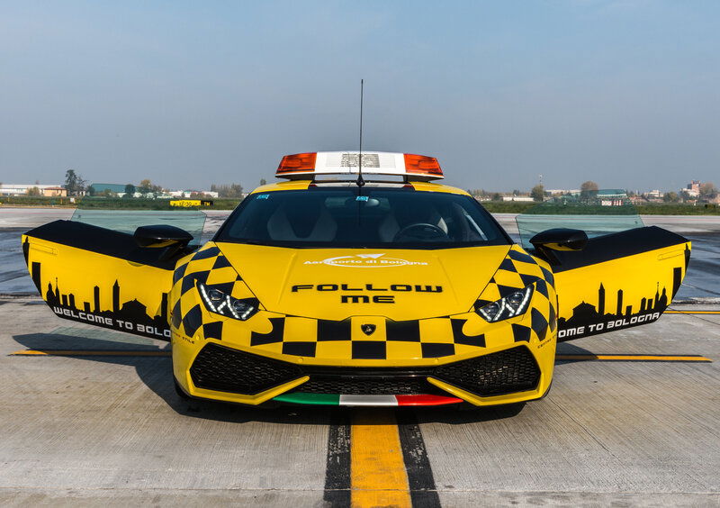
[[[0,181],[209,187],[286,153],[464,188],[720,184],[717,2],[0,1]]]

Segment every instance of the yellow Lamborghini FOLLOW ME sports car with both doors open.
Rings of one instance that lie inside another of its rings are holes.
[[[211,241],[56,221],[23,235],[58,316],[172,342],[183,396],[478,406],[543,397],[557,341],[653,322],[690,244],[657,227],[523,249],[437,159],[286,156]]]

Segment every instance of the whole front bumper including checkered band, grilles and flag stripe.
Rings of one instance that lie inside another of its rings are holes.
[[[541,281],[538,281],[538,284]],[[541,290],[542,289],[542,290]],[[527,313],[331,322],[261,310],[246,322],[173,289],[173,368],[187,395],[238,404],[513,404],[550,386],[556,298],[543,282]],[[181,302],[182,301],[182,302]],[[366,334],[364,326],[374,325]],[[438,398],[440,397],[440,398]]]

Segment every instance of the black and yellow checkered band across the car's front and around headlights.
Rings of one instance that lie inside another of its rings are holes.
[[[488,323],[474,309],[446,317],[392,321],[384,316],[353,316],[343,321],[271,313],[264,310],[247,322],[209,313],[200,301],[197,281],[236,298],[254,297],[250,288],[213,243],[183,259],[175,269],[171,293],[174,333],[189,340],[222,340],[230,347],[309,364],[367,362],[419,364],[455,361],[515,342],[538,343],[555,331],[554,281],[549,267],[513,246],[482,292],[479,306],[530,284],[530,310],[506,322]],[[368,332],[372,329],[371,332]],[[365,330],[365,331],[364,331]],[[302,359],[301,359],[302,358]]]

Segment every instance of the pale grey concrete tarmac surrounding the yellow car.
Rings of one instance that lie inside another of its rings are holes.
[[[22,262],[14,242],[33,225],[4,213],[0,224],[15,229],[0,231],[0,274]],[[717,218],[688,219],[676,227],[693,230],[683,234],[700,239],[694,259],[707,259],[697,285],[714,290]],[[37,296],[14,293],[0,296],[0,503],[295,508],[354,499],[331,480],[342,467],[356,474],[343,450],[356,422],[380,421],[376,410],[188,402],[175,395],[165,342],[62,321]],[[522,408],[391,410],[413,503],[720,505],[720,305],[705,302],[558,348],[664,361],[559,360],[550,394]],[[114,356],[13,355],[29,349]],[[672,360],[679,355],[713,361]]]

